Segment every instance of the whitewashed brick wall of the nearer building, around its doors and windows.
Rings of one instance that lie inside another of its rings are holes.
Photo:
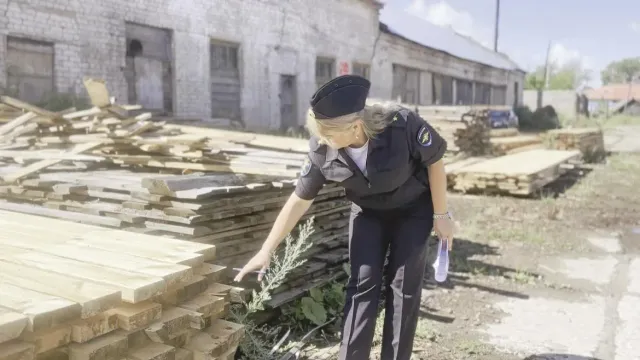
[[[57,91],[83,94],[82,77],[100,77],[120,102],[128,99],[125,23],[171,30],[178,117],[210,116],[210,42],[237,43],[242,118],[256,128],[279,126],[280,74],[297,76],[302,123],[316,56],[335,58],[336,67],[368,63],[378,32],[377,9],[365,0],[0,0],[0,14],[0,86],[6,37],[14,36],[54,43]]]

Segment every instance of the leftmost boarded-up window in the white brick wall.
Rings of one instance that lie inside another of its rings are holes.
[[[55,92],[53,44],[29,39],[7,39],[7,88],[9,94],[30,103],[41,103]]]

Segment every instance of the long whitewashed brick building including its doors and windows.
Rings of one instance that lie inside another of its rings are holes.
[[[464,103],[466,79],[504,88],[493,102],[521,98],[515,66],[480,65],[381,31],[379,8],[374,0],[0,0],[0,88],[35,101],[83,94],[83,76],[101,77],[120,102],[252,128],[301,124],[318,83],[345,72],[369,76],[373,97]],[[458,81],[440,85],[438,74]]]

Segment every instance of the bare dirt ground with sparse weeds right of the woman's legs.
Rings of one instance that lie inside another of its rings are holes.
[[[640,154],[629,153],[577,171],[533,199],[451,194],[461,226],[452,271],[443,284],[432,275],[425,281],[414,359],[522,360],[476,331],[500,320],[492,304],[563,287],[567,294],[580,291],[537,274],[538,264],[559,254],[589,254],[589,235],[615,233],[624,242],[640,227],[638,185]],[[637,244],[627,245],[640,252]],[[335,344],[327,346],[335,351]],[[376,346],[372,356],[378,354]]]

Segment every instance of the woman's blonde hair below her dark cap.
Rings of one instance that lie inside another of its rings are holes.
[[[366,105],[363,110],[331,119],[317,119],[311,109],[307,113],[307,129],[324,143],[328,132],[341,132],[349,129],[357,120],[362,120],[362,130],[369,139],[373,139],[393,121],[393,113],[400,109],[393,104]]]

